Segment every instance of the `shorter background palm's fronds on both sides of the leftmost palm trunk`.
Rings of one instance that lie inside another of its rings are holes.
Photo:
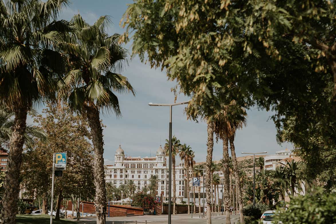
[[[28,110],[31,117],[37,116],[35,109]],[[10,136],[13,133],[14,113],[10,107],[0,106],[0,149],[8,150],[10,148]],[[27,124],[24,133],[24,145],[30,148],[34,145],[36,139],[46,140],[47,134],[39,127]]]

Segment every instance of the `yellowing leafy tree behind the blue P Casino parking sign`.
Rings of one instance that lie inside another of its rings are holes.
[[[60,203],[63,197],[92,198],[93,148],[87,121],[74,116],[69,107],[47,104],[42,112],[34,117],[34,122],[47,133],[48,140],[37,140],[24,152],[20,177],[25,189],[42,196],[42,213],[47,214],[53,153],[67,152],[67,169],[62,177],[55,178],[54,195],[58,195]]]

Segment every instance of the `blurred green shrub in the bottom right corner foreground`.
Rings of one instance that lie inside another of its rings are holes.
[[[278,211],[277,221],[283,224],[336,223],[336,194],[315,189],[304,196],[291,198],[287,211]]]

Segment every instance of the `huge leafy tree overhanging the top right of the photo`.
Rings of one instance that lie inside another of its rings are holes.
[[[121,25],[133,54],[177,80],[187,114],[213,116],[233,99],[275,111],[311,178],[336,184],[335,1],[135,0]],[[216,111],[216,113],[214,113]]]

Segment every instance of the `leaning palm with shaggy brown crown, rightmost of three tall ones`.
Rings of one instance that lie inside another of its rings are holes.
[[[238,194],[237,202],[239,203],[240,221],[242,224],[245,224],[245,220],[243,215],[242,189],[239,179],[238,162],[235,152],[234,140],[236,130],[242,128],[243,125],[246,125],[246,116],[247,114],[245,109],[238,107],[236,101],[232,100],[229,105],[222,105],[222,110],[215,116],[214,122],[217,140],[218,137],[223,140],[223,159],[227,164],[227,168],[225,168],[226,175],[224,174],[224,176],[227,176],[229,172],[228,142],[230,143],[230,150],[233,161],[233,173],[235,176],[236,189]],[[226,219],[226,223],[229,223],[228,219]]]

